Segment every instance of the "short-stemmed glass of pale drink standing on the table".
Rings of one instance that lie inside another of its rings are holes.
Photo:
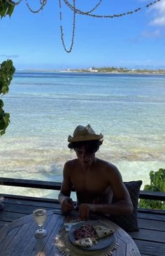
[[[47,235],[47,231],[43,229],[43,224],[45,223],[47,217],[47,212],[45,209],[34,210],[34,222],[38,225],[38,229],[35,231],[34,235],[37,238],[43,238]]]

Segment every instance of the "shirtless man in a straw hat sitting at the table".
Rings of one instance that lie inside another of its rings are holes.
[[[133,211],[129,192],[117,167],[95,156],[103,141],[101,139],[103,135],[95,134],[89,124],[87,127],[78,125],[73,136],[68,138],[68,146],[73,148],[77,158],[64,165],[59,202],[63,213],[71,212],[74,205],[70,196],[72,188],[75,188],[82,220],[88,219],[89,212],[129,215]],[[114,203],[112,198],[115,198]]]

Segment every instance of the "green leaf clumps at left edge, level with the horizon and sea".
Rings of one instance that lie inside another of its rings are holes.
[[[5,60],[0,65],[0,96],[7,94],[9,91],[9,85],[13,79],[15,67],[12,60]],[[6,128],[10,123],[10,114],[5,113],[3,110],[3,101],[0,99],[0,136],[5,134]]]

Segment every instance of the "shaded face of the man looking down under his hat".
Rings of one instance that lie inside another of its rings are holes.
[[[92,162],[95,158],[95,153],[88,152],[85,146],[75,148],[75,152],[78,157],[78,160],[82,165],[92,165]]]

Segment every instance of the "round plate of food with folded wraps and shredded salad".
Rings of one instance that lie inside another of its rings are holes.
[[[114,229],[98,221],[80,222],[71,227],[71,243],[85,250],[100,250],[115,243]]]

